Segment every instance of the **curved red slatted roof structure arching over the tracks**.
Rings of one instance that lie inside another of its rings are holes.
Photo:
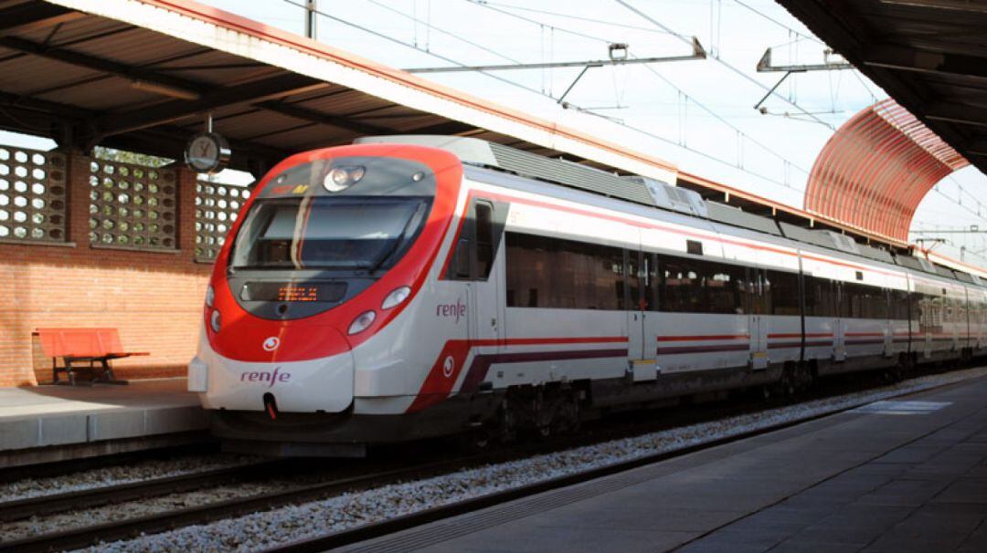
[[[922,121],[888,99],[863,109],[823,147],[805,210],[901,242],[922,198],[969,165]]]

